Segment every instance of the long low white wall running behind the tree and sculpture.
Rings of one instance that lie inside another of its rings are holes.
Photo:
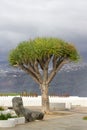
[[[0,106],[12,106],[12,98],[14,96],[0,96]],[[22,97],[24,106],[41,106],[41,96]],[[65,108],[70,109],[73,106],[87,107],[86,97],[49,97],[50,103],[65,103]]]

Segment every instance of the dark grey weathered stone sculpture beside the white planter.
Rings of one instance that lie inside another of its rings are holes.
[[[31,111],[23,106],[23,101],[21,97],[14,97],[12,99],[13,109],[17,116],[24,116],[26,122],[31,122],[34,120],[42,120],[44,114],[38,111]]]

